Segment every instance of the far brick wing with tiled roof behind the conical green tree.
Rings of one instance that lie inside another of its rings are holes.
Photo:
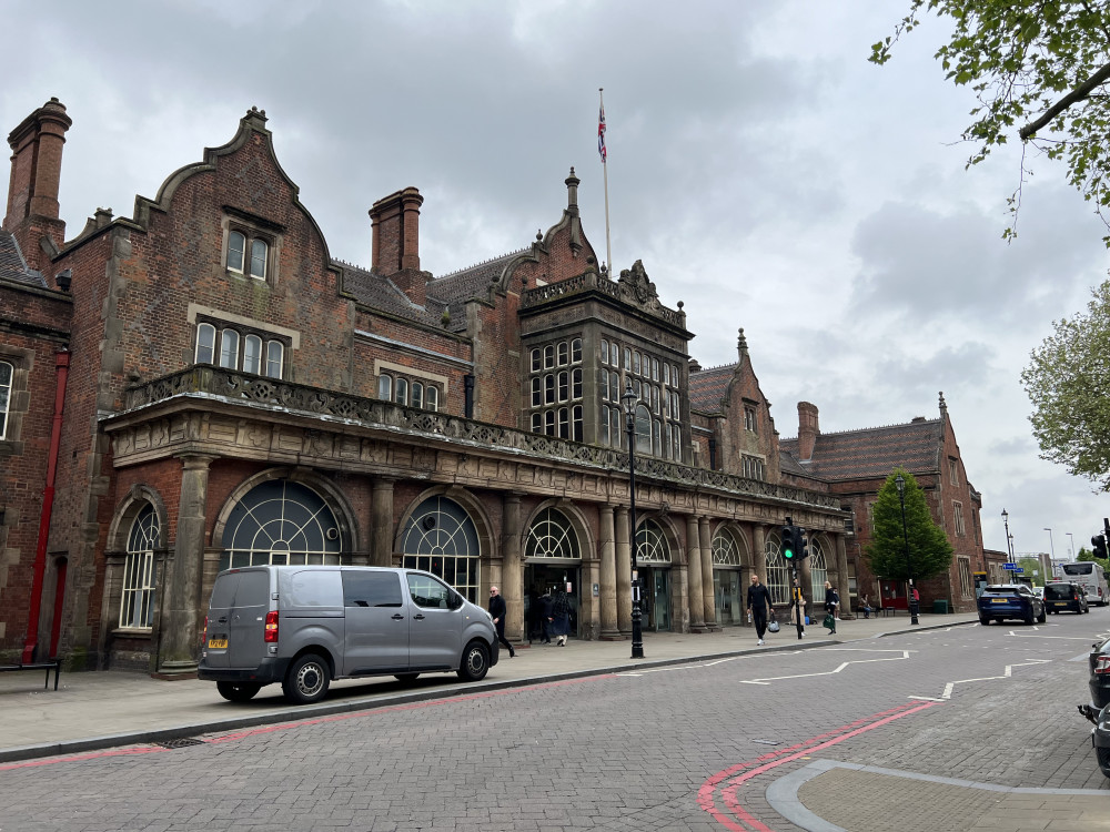
[[[851,608],[867,593],[872,606],[906,609],[906,585],[885,580],[868,569],[864,551],[871,539],[871,510],[890,473],[901,467],[925,490],[932,519],[952,545],[952,565],[945,575],[917,581],[921,609],[947,601],[959,612],[976,608],[972,574],[988,571],[979,513],[982,496],[968,481],[960,446],[940,394],[940,417],[918,416],[901,425],[823,434],[817,407],[798,403],[798,436],[780,444],[784,468],[794,480],[827,485],[854,518],[855,536],[848,562]],[[849,596],[841,593],[842,598]]]

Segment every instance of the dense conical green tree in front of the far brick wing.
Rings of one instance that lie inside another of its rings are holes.
[[[906,480],[906,527],[902,532],[901,501],[897,477]],[[932,521],[925,491],[904,468],[896,468],[879,489],[871,509],[875,534],[865,556],[871,571],[888,580],[906,580],[912,565],[914,580],[925,580],[948,571],[952,565],[952,546],[944,530]],[[909,559],[906,540],[909,539]]]

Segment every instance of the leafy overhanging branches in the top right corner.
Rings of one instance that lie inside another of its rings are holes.
[[[895,42],[925,14],[955,23],[936,58],[957,85],[971,85],[979,104],[963,140],[976,144],[967,166],[979,164],[1015,134],[1049,159],[1063,160],[1068,182],[1110,209],[1110,11],[1098,0],[910,0],[909,14],[892,35],[871,47],[870,61],[884,64]],[[1020,125],[1020,126],[1019,126]],[[1012,237],[1027,173],[1025,153],[1018,187],[1009,199]],[[1110,235],[1103,237],[1110,246]]]

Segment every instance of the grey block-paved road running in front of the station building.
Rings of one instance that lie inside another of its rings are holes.
[[[816,759],[1107,789],[1074,706],[1108,629],[1094,609],[29,761],[0,771],[0,830],[793,830],[766,789]]]

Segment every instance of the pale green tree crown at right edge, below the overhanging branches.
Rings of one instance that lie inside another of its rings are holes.
[[[1110,490],[1110,282],[1091,291],[1087,314],[1057,321],[1032,351],[1021,384],[1041,458]]]

